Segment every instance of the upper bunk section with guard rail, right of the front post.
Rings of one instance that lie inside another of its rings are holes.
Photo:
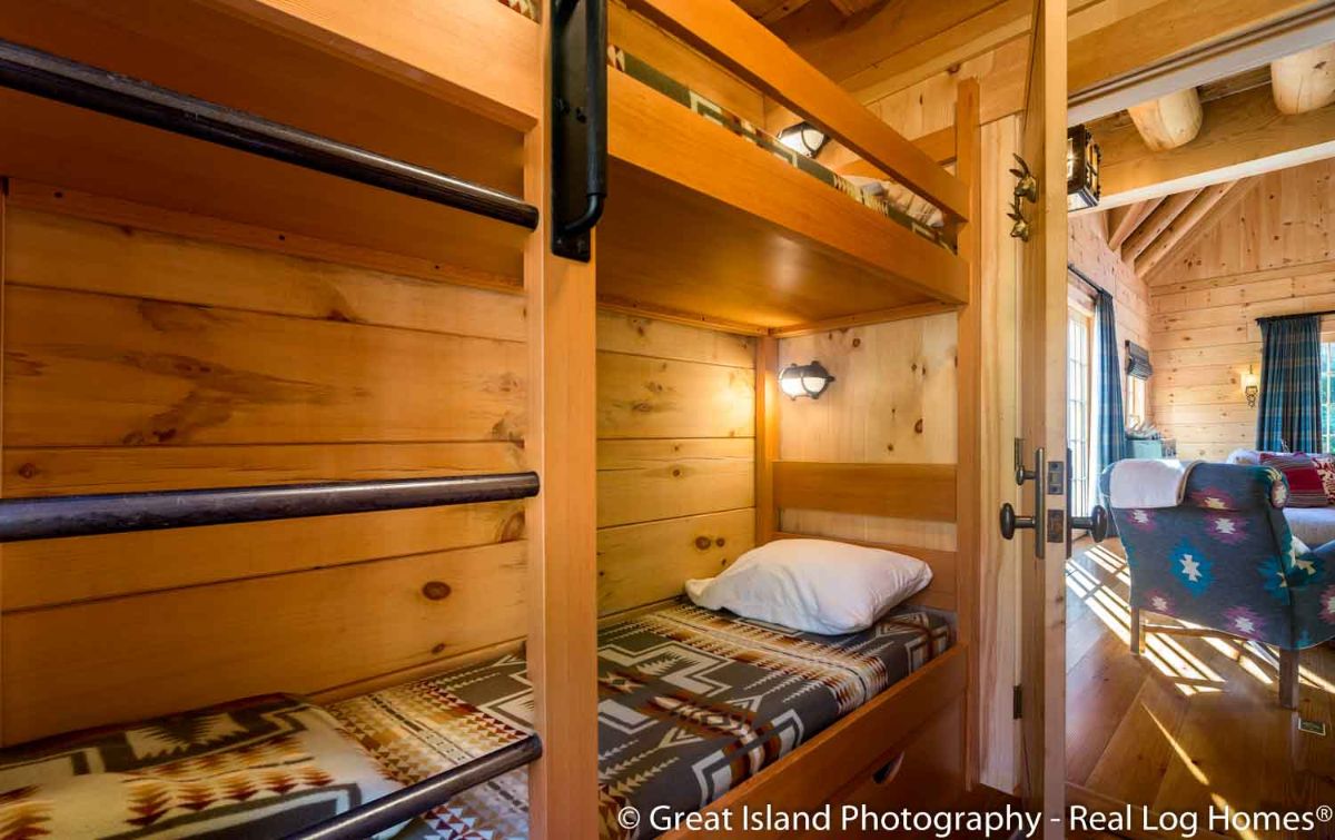
[[[598,227],[603,303],[764,331],[968,302],[968,262],[953,243],[968,215],[960,179],[736,4],[629,5],[916,192],[944,226],[910,226],[881,199],[853,198],[846,179],[813,172],[824,167],[774,148],[689,81],[650,67],[653,59],[635,61],[614,27],[611,196]]]

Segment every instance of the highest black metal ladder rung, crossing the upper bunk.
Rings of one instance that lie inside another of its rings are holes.
[[[535,230],[538,208],[435,170],[0,40],[0,85]]]

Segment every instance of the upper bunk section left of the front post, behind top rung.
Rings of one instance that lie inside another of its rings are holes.
[[[17,0],[0,4],[0,39],[522,199],[542,112],[533,4],[392,5]],[[284,250],[332,243],[402,274],[522,287],[522,224],[15,89],[0,114],[13,203],[83,212],[91,194],[240,223],[260,244],[278,234]]]

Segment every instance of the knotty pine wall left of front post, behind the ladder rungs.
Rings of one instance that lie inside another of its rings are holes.
[[[112,223],[111,206],[5,215],[9,495],[522,465],[521,298],[180,235],[148,207]],[[5,546],[4,739],[514,640],[522,540],[522,505],[495,503]],[[433,580],[451,594],[426,598]]]

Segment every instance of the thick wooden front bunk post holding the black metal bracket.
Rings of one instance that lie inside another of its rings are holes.
[[[543,101],[551,101],[550,84]],[[526,511],[527,661],[542,739],[542,759],[529,768],[534,840],[598,836],[597,276],[594,259],[571,262],[549,248],[550,148],[543,119],[525,138],[525,199],[541,208],[523,256],[525,451],[542,481]]]

